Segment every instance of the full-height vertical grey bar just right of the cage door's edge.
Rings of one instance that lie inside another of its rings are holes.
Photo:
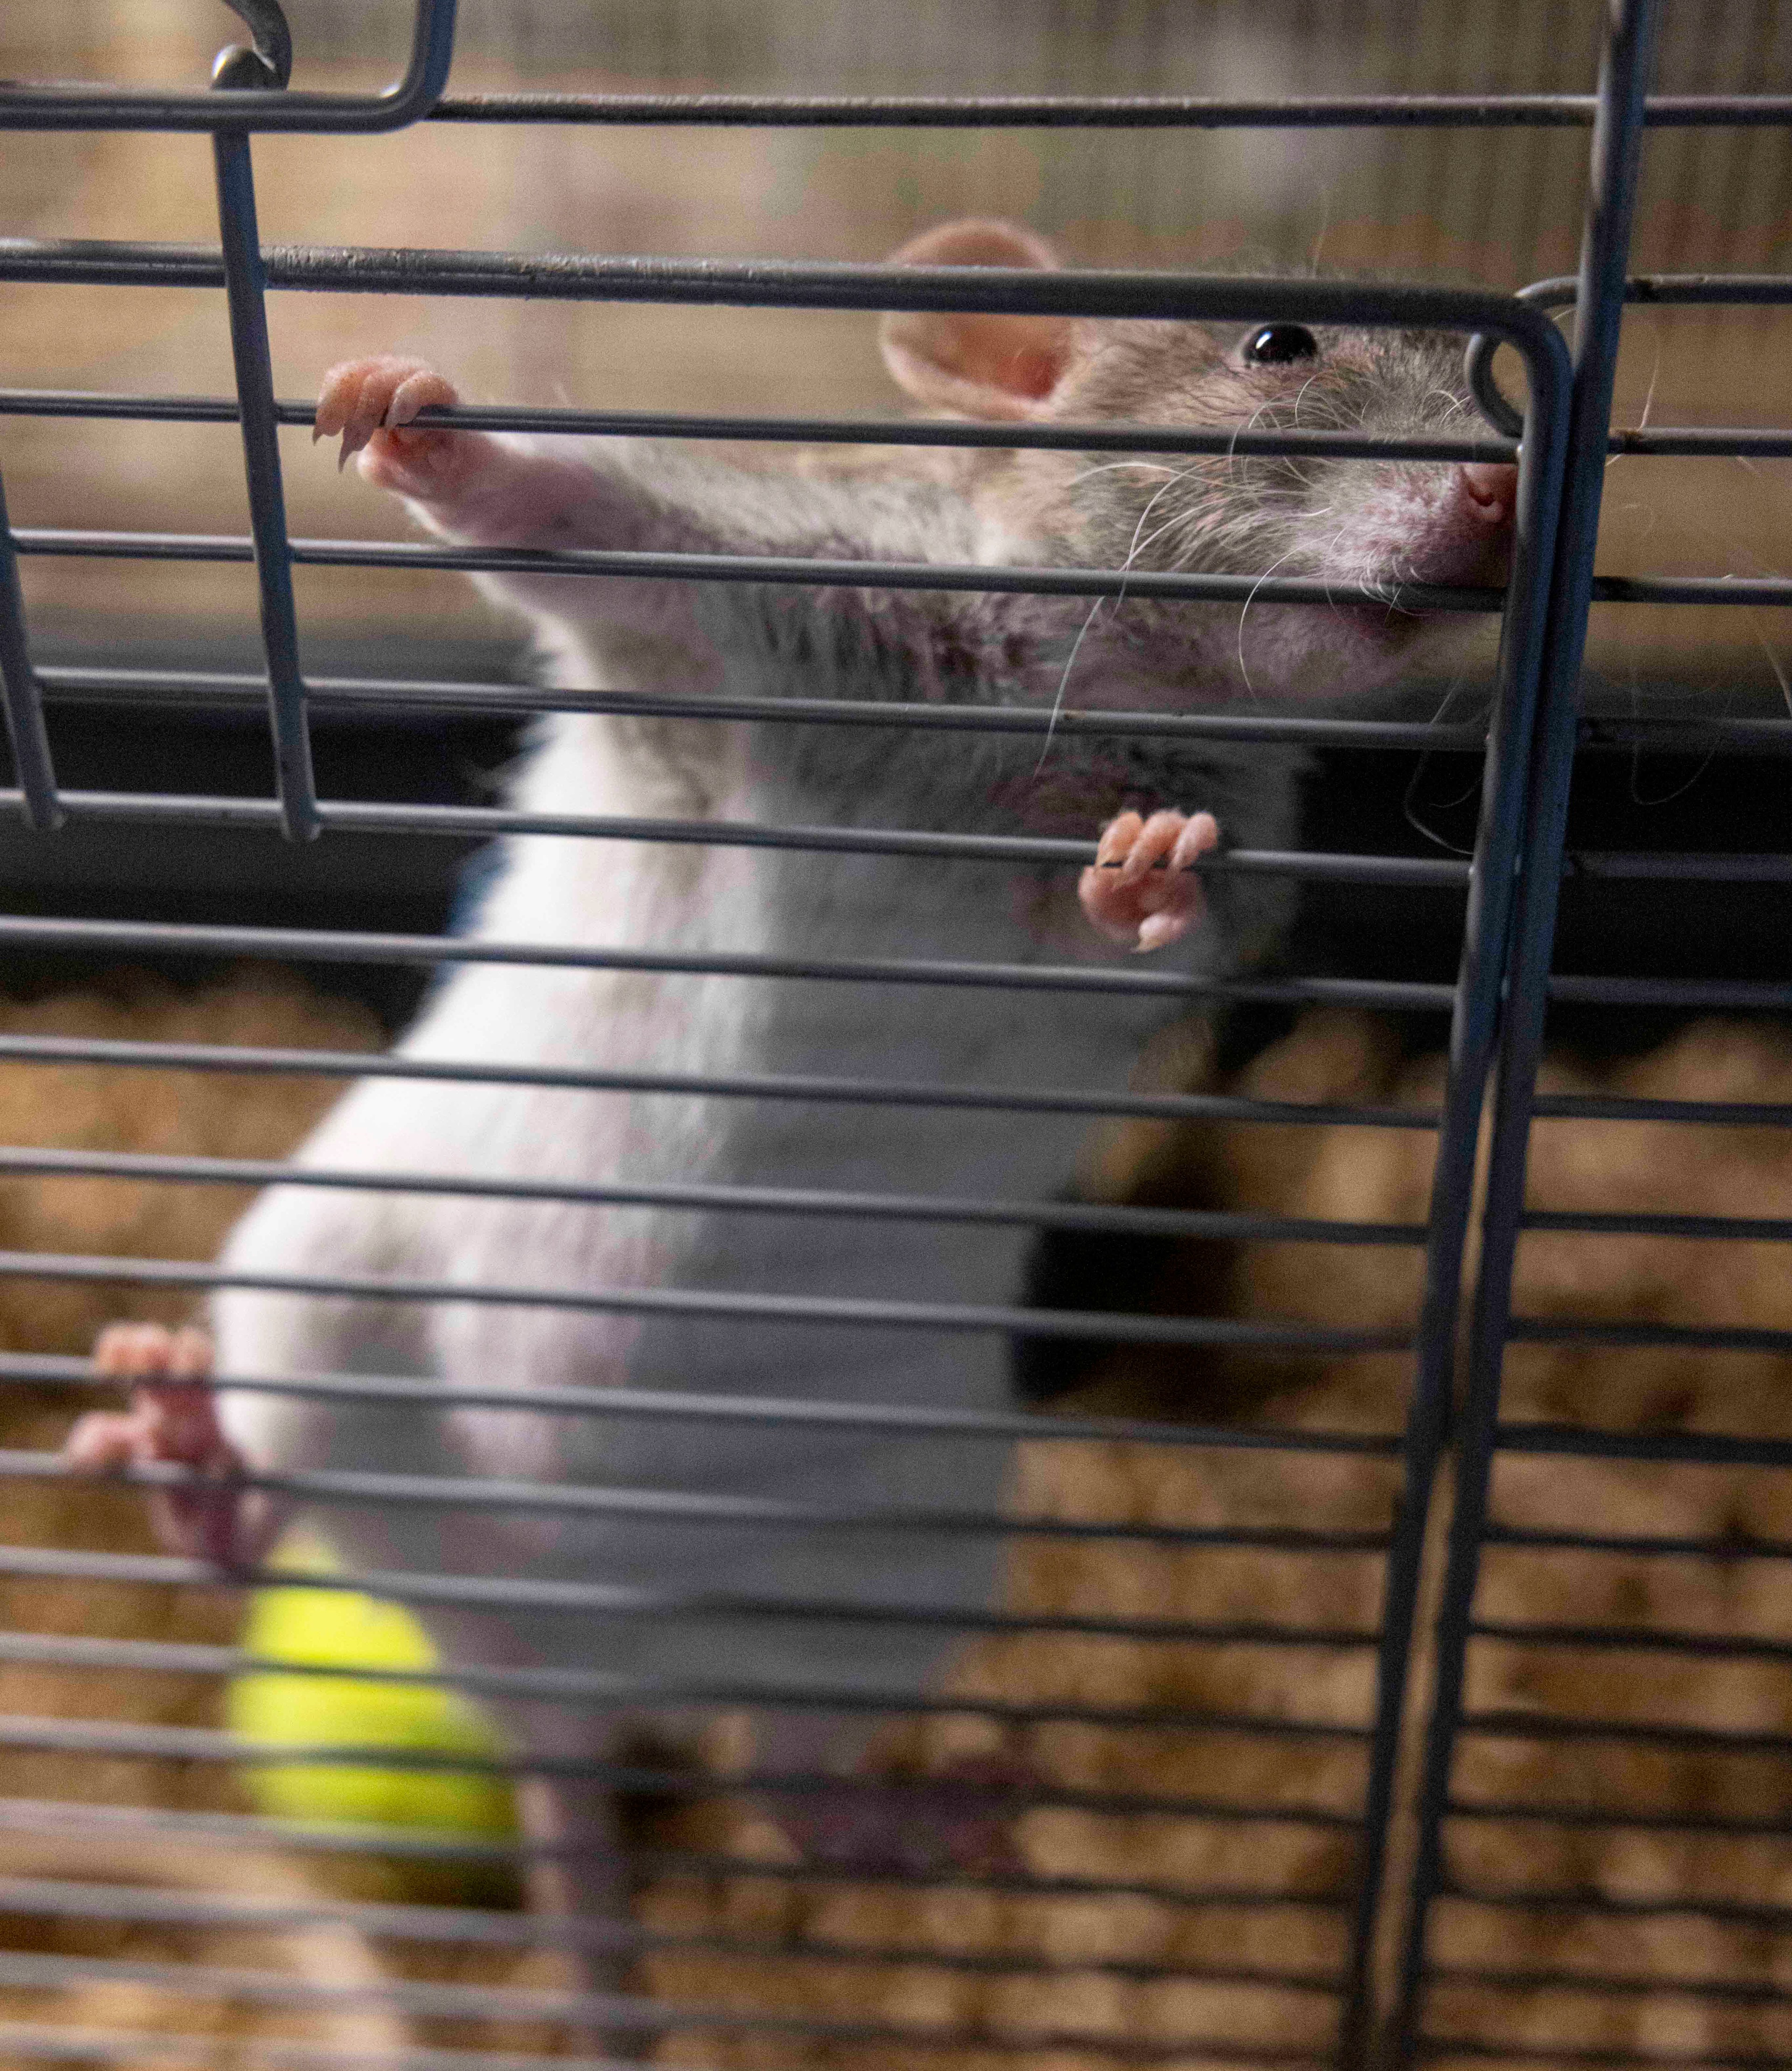
[[[1655,0],[1612,0],[1610,35],[1599,66],[1599,114],[1593,126],[1593,168],[1581,240],[1568,474],[1543,657],[1543,710],[1533,748],[1535,775],[1523,830],[1525,874],[1519,886],[1506,1029],[1500,1044],[1487,1205],[1481,1220],[1481,1272],[1469,1344],[1469,1385],[1456,1431],[1450,1557],[1436,1638],[1438,1694],[1425,1733],[1411,1920],[1392,2025],[1390,2061],[1396,2065],[1413,2061],[1419,2040],[1429,1909],[1442,1878],[1442,1825],[1463,1715],[1469,1611],[1479,1576],[1512,1301],[1512,1263],[1525,1205],[1531,1100],[1543,1050],[1562,845],[1568,826],[1568,785],[1574,768],[1581,659],[1587,646],[1587,613],[1593,596],[1593,553],[1599,538],[1606,439],[1612,420],[1618,333],[1624,317],[1624,273],[1630,253],[1630,217],[1637,203],[1655,19]]]

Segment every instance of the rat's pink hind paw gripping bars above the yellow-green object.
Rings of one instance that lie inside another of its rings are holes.
[[[104,1475],[172,1464],[203,1475],[207,1485],[151,1491],[157,1535],[193,1559],[251,1568],[267,1549],[276,1520],[265,1497],[240,1485],[247,1462],[218,1421],[205,1332],[108,1323],[93,1346],[93,1371],[128,1381],[131,1408],[83,1417],[62,1448],[68,1466]]]

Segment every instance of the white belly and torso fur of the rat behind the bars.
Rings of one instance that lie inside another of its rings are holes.
[[[611,458],[605,454],[605,458]],[[816,499],[822,512],[835,495]],[[930,499],[932,501],[932,499]],[[427,514],[429,516],[429,514]],[[810,528],[816,512],[806,509]],[[941,534],[934,532],[934,543]],[[914,536],[901,543],[916,549]],[[947,551],[970,541],[947,538]],[[570,607],[595,584],[543,578],[534,603],[553,669],[574,681],[729,688],[820,696],[914,696],[912,679],[841,673],[822,646],[796,673],[764,599],[706,601],[721,621],[709,652],[663,646],[663,592],[603,586],[611,617],[578,623]],[[640,603],[640,609],[632,609]],[[773,599],[777,615],[787,599]],[[617,625],[619,621],[619,625]],[[785,628],[789,632],[789,628]],[[810,729],[812,731],[812,729]],[[588,717],[551,719],[512,801],[539,812],[700,812],[731,820],[926,822],[916,772],[889,775],[893,741],[839,729],[820,770],[791,772],[775,729],[688,727],[655,733]],[[955,737],[945,770],[976,758]],[[1005,756],[1025,772],[1038,741]],[[841,768],[843,760],[843,768]],[[880,779],[878,770],[887,775]],[[961,781],[961,779],[959,779]],[[854,795],[831,789],[845,783]],[[798,957],[945,957],[1088,961],[1112,953],[1077,940],[1063,901],[988,864],[607,843],[526,837],[472,926],[479,940],[760,951]],[[934,1083],[1121,1087],[1158,1000],[1112,994],[1005,994],[986,988],[800,980],[663,978],[613,971],[466,965],[406,1036],[404,1054],[520,1064],[671,1073],[798,1073]],[[1079,1118],[924,1106],[754,1102],[578,1093],[539,1087],[371,1079],[298,1154],[298,1164],[603,1180],[779,1183],[889,1193],[1050,1197],[1073,1172]],[[344,1272],[561,1290],[704,1288],[738,1294],[862,1294],[905,1303],[1015,1299],[1025,1232],[870,1218],[686,1214],[439,1195],[271,1189],[238,1224],[226,1270]],[[402,1307],[222,1292],[213,1305],[224,1373],[435,1373],[454,1383],[580,1385],[909,1402],[1009,1404],[999,1334],[630,1317],[466,1303]],[[773,1425],[539,1419],[499,1410],[418,1417],[228,1394],[242,1450],[278,1466],[369,1466],[526,1477],[717,1497],[754,1495],[831,1510],[994,1510],[996,1443],[866,1439]],[[568,1576],[667,1597],[816,1599],[980,1609],[996,1543],[891,1533],[779,1533],[659,1526],[640,1520],[547,1522],[541,1516],[385,1506],[331,1510],[325,1530],[356,1564],[460,1574]],[[634,1615],[534,1620],[431,1611],[450,1653],[479,1661],[576,1661],[651,1684],[789,1684],[918,1692],[943,1638],[926,1626]],[[665,1704],[634,1707],[663,1719]],[[516,1709],[534,1744],[599,1752],[613,1721]],[[802,1717],[773,1758],[814,1754]],[[845,1735],[839,1758],[851,1752]]]

